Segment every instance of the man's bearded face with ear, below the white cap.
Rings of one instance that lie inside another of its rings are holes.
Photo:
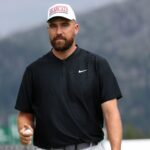
[[[48,33],[51,45],[56,51],[68,50],[79,31],[78,24],[73,20],[57,17],[48,22]]]

